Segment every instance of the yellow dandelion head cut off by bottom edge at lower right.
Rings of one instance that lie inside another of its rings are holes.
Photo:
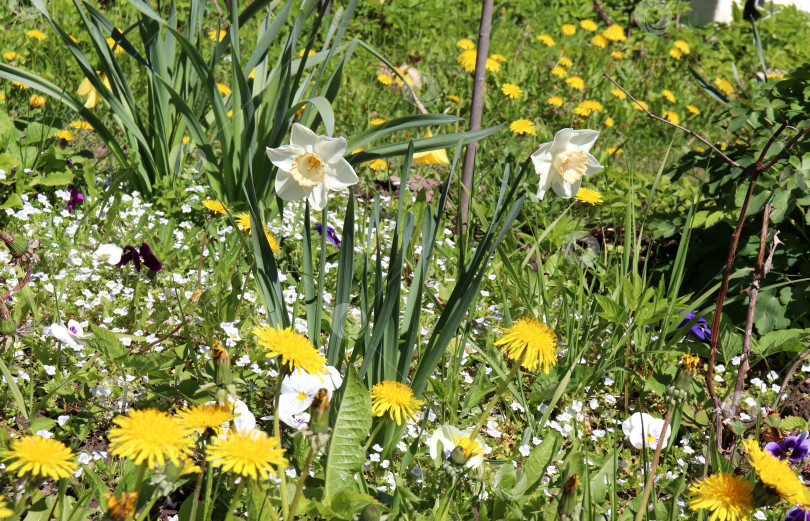
[[[745,521],[754,513],[754,493],[745,478],[713,474],[689,487],[689,507],[708,508],[710,521]]]

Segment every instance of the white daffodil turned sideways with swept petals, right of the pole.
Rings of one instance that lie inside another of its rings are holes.
[[[563,199],[570,199],[579,191],[582,176],[602,169],[589,153],[598,137],[596,130],[564,128],[554,135],[554,141],[540,145],[532,154],[534,170],[540,176],[538,199],[543,199],[549,187]]]

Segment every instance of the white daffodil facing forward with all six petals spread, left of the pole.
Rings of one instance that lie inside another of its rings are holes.
[[[313,210],[323,210],[329,190],[357,183],[357,174],[343,159],[346,139],[319,136],[293,123],[290,144],[267,148],[267,157],[278,167],[276,194],[285,201],[306,199]]]

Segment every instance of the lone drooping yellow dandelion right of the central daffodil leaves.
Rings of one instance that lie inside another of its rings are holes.
[[[495,342],[508,358],[520,362],[528,371],[540,369],[549,374],[557,364],[557,335],[539,320],[519,318]]]

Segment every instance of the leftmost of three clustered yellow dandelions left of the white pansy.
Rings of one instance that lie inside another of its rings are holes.
[[[190,431],[157,409],[133,409],[126,416],[116,416],[113,423],[118,427],[110,429],[110,452],[136,465],[146,461],[154,468],[167,459],[180,465],[194,447],[194,440],[187,436]]]

